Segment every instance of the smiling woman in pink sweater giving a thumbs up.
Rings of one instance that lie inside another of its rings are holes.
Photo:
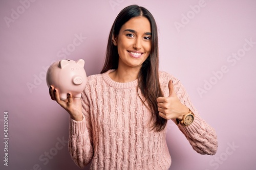
[[[81,99],[52,100],[70,114],[69,151],[79,167],[168,169],[165,136],[172,119],[200,154],[214,155],[215,130],[200,117],[181,82],[158,70],[157,26],[143,7],[115,19],[101,74],[88,77]]]

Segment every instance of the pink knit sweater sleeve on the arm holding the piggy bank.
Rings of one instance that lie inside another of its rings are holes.
[[[82,121],[77,122],[70,117],[69,152],[75,164],[83,168],[91,162],[94,151],[90,107],[85,91],[82,92],[81,99]]]

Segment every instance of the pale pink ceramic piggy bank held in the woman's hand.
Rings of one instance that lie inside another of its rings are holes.
[[[67,99],[69,92],[74,98],[81,98],[81,92],[86,87],[87,82],[87,75],[83,66],[84,61],[82,59],[54,62],[46,74],[48,88],[51,85],[57,88],[61,100]]]

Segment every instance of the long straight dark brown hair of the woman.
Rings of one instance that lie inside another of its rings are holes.
[[[148,109],[151,110],[152,118],[155,120],[153,129],[156,129],[156,131],[159,132],[164,129],[167,120],[159,116],[157,106],[157,98],[159,96],[163,96],[163,93],[160,88],[158,75],[159,57],[157,25],[150,11],[137,5],[131,5],[124,8],[118,14],[110,31],[108,45],[106,47],[106,58],[103,68],[101,70],[101,74],[103,72],[108,71],[109,69],[117,69],[119,56],[117,52],[117,46],[115,46],[112,42],[112,37],[116,37],[119,34],[119,31],[125,22],[129,21],[131,18],[138,16],[146,17],[150,21],[152,32],[151,52],[150,55],[142,64],[142,67],[140,69],[138,75],[138,88],[141,90],[141,93],[144,96],[145,101],[143,101],[141,98],[140,99],[144,104],[145,102],[147,102],[149,107]]]

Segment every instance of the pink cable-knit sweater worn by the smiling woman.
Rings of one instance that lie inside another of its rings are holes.
[[[109,77],[111,71],[88,77],[81,98],[83,120],[70,118],[69,152],[73,161],[81,168],[92,162],[90,169],[168,169],[167,128],[151,130],[151,113],[137,94],[138,81],[115,82]],[[215,130],[200,117],[181,82],[160,71],[164,96],[169,95],[170,79],[179,100],[195,113],[193,124],[179,124],[178,128],[195,151],[215,154]]]

